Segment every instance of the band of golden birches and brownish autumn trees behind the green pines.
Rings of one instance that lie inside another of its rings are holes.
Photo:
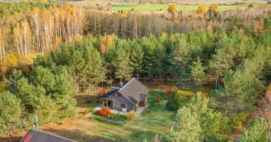
[[[74,43],[87,34],[114,34],[131,40],[190,31],[258,36],[270,28],[270,6],[216,12],[218,6],[211,5],[208,11],[199,6],[197,13],[173,9],[162,15],[111,13],[59,1],[1,2],[0,6],[0,60],[9,54],[26,58],[59,50],[61,43]]]

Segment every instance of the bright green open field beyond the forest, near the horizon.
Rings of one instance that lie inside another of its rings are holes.
[[[160,9],[163,9],[163,11],[168,10],[169,4],[117,4],[113,5],[113,10],[115,11],[131,11],[131,9],[136,9],[138,11],[160,11]],[[232,5],[232,6],[218,6],[218,11],[226,11],[230,9],[245,9],[250,4],[239,4],[239,5]],[[258,6],[271,6],[271,4],[252,4],[255,8]],[[198,9],[198,6],[184,6],[184,5],[175,5],[176,9],[178,11],[194,11]],[[210,5],[205,5],[205,8],[208,9]]]

